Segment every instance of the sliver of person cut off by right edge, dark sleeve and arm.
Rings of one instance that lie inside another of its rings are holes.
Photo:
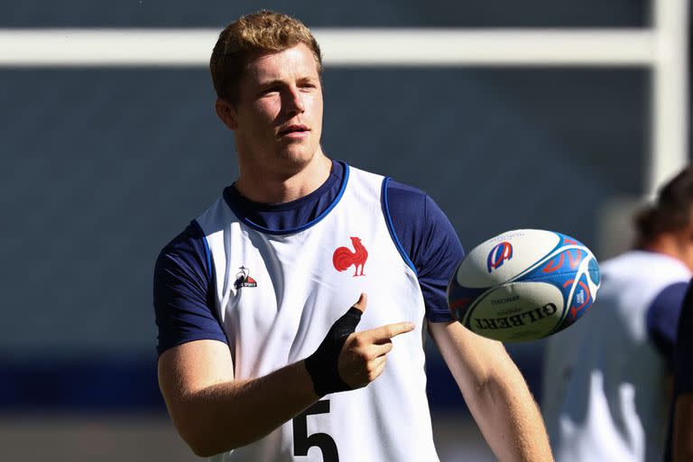
[[[693,460],[693,281],[688,284],[674,345],[674,399],[666,462]]]

